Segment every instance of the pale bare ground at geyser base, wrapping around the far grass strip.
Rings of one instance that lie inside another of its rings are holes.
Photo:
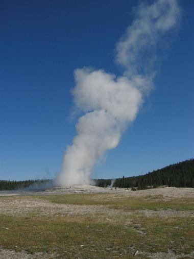
[[[96,213],[109,215],[120,215],[120,211],[109,208],[105,205],[74,205],[74,204],[56,204],[47,200],[39,199],[38,196],[44,195],[56,195],[56,194],[83,194],[83,193],[110,193],[113,194],[112,198],[120,199],[120,195],[129,198],[134,197],[163,197],[164,201],[171,199],[185,199],[193,198],[194,200],[194,189],[192,188],[176,188],[176,187],[164,187],[158,189],[148,189],[141,191],[129,191],[126,189],[109,189],[96,186],[67,186],[59,189],[54,188],[45,191],[3,191],[0,192],[0,213],[6,215],[25,215],[38,210],[39,215],[95,215]],[[13,199],[8,196],[19,196],[17,199]],[[31,199],[29,196],[37,196]],[[105,197],[107,199],[107,197]],[[143,213],[147,217],[150,216],[192,216],[194,217],[194,211],[179,211],[179,210],[138,210],[139,213]],[[136,213],[136,212],[134,212]],[[126,214],[124,211],[122,214]],[[128,212],[129,214],[129,212]],[[133,214],[133,213],[130,213]]]

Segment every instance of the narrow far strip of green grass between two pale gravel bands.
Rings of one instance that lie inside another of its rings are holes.
[[[77,205],[107,205],[116,209],[176,209],[176,210],[194,210],[194,201],[192,199],[180,200],[174,199],[164,201],[161,195],[148,197],[126,197],[123,195],[112,194],[69,194],[40,196],[58,204],[77,204]]]

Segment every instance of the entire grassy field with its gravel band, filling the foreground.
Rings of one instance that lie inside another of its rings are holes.
[[[14,215],[1,213],[2,248],[51,252],[55,254],[51,258],[133,258],[137,250],[137,258],[159,258],[154,257],[157,252],[193,258],[189,255],[194,250],[190,198],[164,201],[161,195],[69,194],[1,197],[0,201],[11,206],[27,199],[29,204],[36,200],[32,211],[21,207]],[[47,210],[42,210],[44,202],[45,207],[50,205]],[[52,206],[55,213],[50,215]]]

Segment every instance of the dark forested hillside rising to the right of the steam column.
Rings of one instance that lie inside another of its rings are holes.
[[[97,186],[107,187],[111,179],[96,179]],[[117,178],[113,187],[137,187],[138,190],[161,185],[175,187],[194,187],[194,159],[171,164],[145,175]]]

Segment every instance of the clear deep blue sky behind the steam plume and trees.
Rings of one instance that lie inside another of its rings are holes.
[[[54,177],[76,134],[74,69],[122,73],[115,43],[137,1],[1,1],[0,179]],[[191,157],[194,148],[194,2],[165,51],[155,89],[93,177],[147,173]]]

